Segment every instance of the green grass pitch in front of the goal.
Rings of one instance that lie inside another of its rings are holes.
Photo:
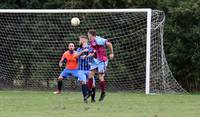
[[[200,95],[108,92],[104,102],[84,104],[80,92],[0,91],[0,117],[199,116]]]

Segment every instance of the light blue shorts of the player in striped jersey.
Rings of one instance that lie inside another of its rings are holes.
[[[90,74],[90,71],[79,70],[78,71],[78,76],[79,76],[78,80],[86,83],[89,78],[89,74]],[[95,86],[95,78],[93,78],[93,85]]]

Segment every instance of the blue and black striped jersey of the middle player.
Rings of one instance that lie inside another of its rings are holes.
[[[85,48],[79,47],[77,49],[77,53],[80,53],[84,49],[88,49],[90,51],[90,46],[87,45]],[[88,71],[90,70],[90,64],[92,63],[93,57],[83,58],[83,56],[87,56],[89,52],[84,52],[82,55],[78,57],[78,70]]]

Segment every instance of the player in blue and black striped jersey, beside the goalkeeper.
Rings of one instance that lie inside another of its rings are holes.
[[[78,58],[78,70],[79,70],[79,75],[81,75],[82,78],[82,92],[83,92],[83,97],[87,95],[87,80],[89,77],[89,72],[90,72],[90,65],[92,63],[93,57],[87,57],[89,54],[89,51],[91,51],[90,46],[88,45],[88,39],[87,36],[80,36],[79,37],[80,41],[80,47],[77,49],[77,52],[82,52],[84,49],[88,49],[87,52],[84,52],[79,56]],[[93,78],[94,79],[94,78]],[[84,100],[85,103],[87,103],[87,100]],[[92,98],[91,102],[95,102],[95,81],[93,81],[93,87],[92,87]]]

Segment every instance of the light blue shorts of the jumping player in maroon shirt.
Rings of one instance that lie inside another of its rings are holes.
[[[93,59],[90,70],[97,69],[98,73],[105,73],[107,65],[108,65],[108,60],[103,62],[98,59]]]

